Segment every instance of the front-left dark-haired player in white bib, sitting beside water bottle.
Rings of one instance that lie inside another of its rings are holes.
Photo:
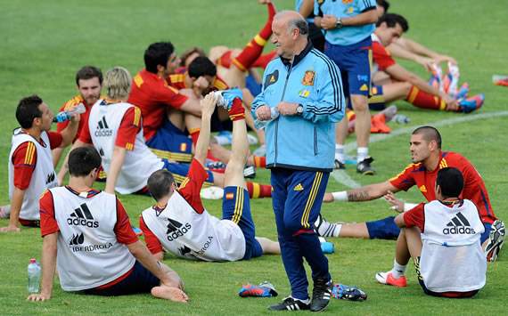
[[[100,166],[94,148],[72,150],[69,185],[46,190],[41,197],[42,287],[28,299],[51,298],[56,268],[67,292],[152,293],[186,302],[182,280],[137,239],[119,199],[92,188]]]

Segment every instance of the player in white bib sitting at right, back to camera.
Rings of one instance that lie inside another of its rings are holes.
[[[406,265],[410,257],[423,292],[430,296],[471,297],[485,286],[487,263],[479,239],[485,231],[478,209],[469,199],[460,199],[463,174],[454,167],[438,171],[436,199],[421,203],[395,223],[397,239],[393,270],[378,272],[381,284],[407,286]]]

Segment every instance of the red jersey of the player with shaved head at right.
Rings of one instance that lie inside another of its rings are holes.
[[[496,215],[490,205],[487,188],[483,179],[466,158],[452,151],[439,154],[438,167],[428,171],[422,163],[411,164],[404,171],[389,179],[389,182],[399,190],[408,190],[416,185],[425,199],[436,199],[436,178],[438,171],[447,166],[458,169],[463,174],[464,188],[461,199],[470,199],[478,207],[479,216],[483,223],[494,223]]]

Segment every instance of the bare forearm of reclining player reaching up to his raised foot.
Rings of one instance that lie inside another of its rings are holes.
[[[202,116],[201,116],[201,130],[196,148],[194,150],[194,159],[196,159],[201,166],[205,166],[207,153],[209,150],[210,142],[210,119],[215,110],[217,97],[215,93],[209,93],[201,100]]]

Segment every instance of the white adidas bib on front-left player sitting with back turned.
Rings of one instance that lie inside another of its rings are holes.
[[[58,223],[57,270],[61,288],[78,291],[118,279],[135,264],[127,246],[117,241],[117,199],[100,192],[80,197],[65,187],[51,189]]]

